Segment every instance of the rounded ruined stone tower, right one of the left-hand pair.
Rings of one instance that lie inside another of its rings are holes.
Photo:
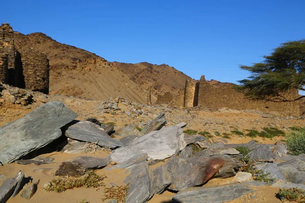
[[[47,55],[32,49],[21,53],[25,89],[49,93],[49,60]]]

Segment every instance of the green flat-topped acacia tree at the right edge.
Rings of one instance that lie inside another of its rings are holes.
[[[254,99],[272,101],[295,101],[285,98],[283,92],[289,90],[305,91],[305,40],[291,41],[274,49],[270,56],[263,56],[264,61],[252,66],[240,65],[240,69],[251,72],[248,79],[238,81],[237,91]]]

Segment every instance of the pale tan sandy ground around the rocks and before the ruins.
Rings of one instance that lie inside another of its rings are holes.
[[[167,109],[163,107],[143,107],[146,112],[149,114],[139,115],[136,117],[127,116],[126,114],[118,113],[116,115],[102,113],[99,109],[99,105],[102,104],[102,101],[92,101],[84,100],[80,98],[73,98],[69,96],[60,96],[60,95],[51,95],[49,100],[60,100],[78,116],[78,120],[83,120],[88,117],[96,117],[98,119],[103,119],[105,123],[114,122],[115,128],[119,128],[129,123],[136,123],[147,121],[149,119],[154,119],[157,115],[162,112],[166,113],[166,119],[168,121],[168,126],[177,124],[179,122],[185,121],[188,123],[186,129],[195,129],[199,131],[209,131],[211,134],[214,134],[215,131],[230,132],[232,129],[238,129],[244,131],[246,129],[261,129],[266,126],[275,126],[279,129],[287,132],[288,127],[292,126],[304,126],[304,120],[300,118],[286,118],[286,117],[275,117],[270,116],[268,118],[263,118],[259,112],[241,112],[241,111],[230,111],[226,110],[224,112],[209,112],[209,111],[197,111],[197,110],[177,110],[177,109]],[[18,118],[23,117],[27,113],[33,111],[41,104],[33,104],[26,107],[21,107],[18,105],[4,105],[0,107],[0,126],[3,126],[11,121],[14,121]],[[123,109],[130,109],[130,107],[120,105]],[[273,140],[255,138],[257,142],[274,144],[276,141],[285,139],[284,137],[276,137]],[[211,138],[211,141],[217,141],[219,137],[214,136]],[[231,136],[230,139],[227,139],[228,143],[247,143],[252,139],[249,137],[241,138],[239,136]],[[17,163],[5,164],[0,167],[0,174],[6,176],[6,178],[15,177],[15,175],[22,171],[26,176],[32,177],[33,182],[36,182],[38,179],[40,183],[38,185],[38,191],[36,194],[29,200],[22,199],[20,194],[15,198],[10,198],[8,202],[69,202],[69,203],[79,203],[82,199],[94,202],[102,202],[101,198],[103,197],[103,187],[98,189],[87,189],[87,188],[77,188],[74,190],[65,191],[63,193],[55,192],[46,192],[43,189],[44,184],[47,181],[51,181],[56,178],[54,176],[55,171],[62,161],[77,157],[77,156],[94,156],[104,158],[108,152],[96,152],[95,154],[66,154],[66,153],[51,153],[43,154],[42,156],[51,156],[54,159],[53,163],[43,164],[43,165],[21,165]],[[154,166],[150,166],[151,169],[158,167],[159,163]],[[48,170],[35,171],[40,168],[49,168]],[[110,186],[110,184],[123,185],[123,181],[128,176],[129,173],[125,173],[126,170],[111,170],[108,171],[107,168],[97,170],[97,174],[106,175],[105,184]],[[0,179],[0,184],[4,182],[4,179]],[[228,179],[212,179],[207,182],[202,187],[223,185],[231,183],[232,178]],[[244,195],[238,199],[235,199],[231,202],[281,202],[276,198],[275,194],[278,192],[279,188],[271,188],[269,186],[257,187],[255,188],[255,193]],[[149,203],[159,203],[159,202],[170,202],[170,198],[174,193],[165,191],[163,194],[156,194],[151,198]],[[215,194],[217,195],[217,194]],[[107,202],[107,201],[105,201]]]

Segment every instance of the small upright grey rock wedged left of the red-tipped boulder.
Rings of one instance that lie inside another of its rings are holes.
[[[153,171],[154,192],[162,193],[171,184],[171,176],[165,165],[161,165]]]

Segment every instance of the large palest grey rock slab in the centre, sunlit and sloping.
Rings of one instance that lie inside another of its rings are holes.
[[[148,159],[165,159],[179,149],[180,127],[165,127],[134,140],[129,145],[115,149],[110,154],[111,160],[121,163],[137,154],[147,153]]]

